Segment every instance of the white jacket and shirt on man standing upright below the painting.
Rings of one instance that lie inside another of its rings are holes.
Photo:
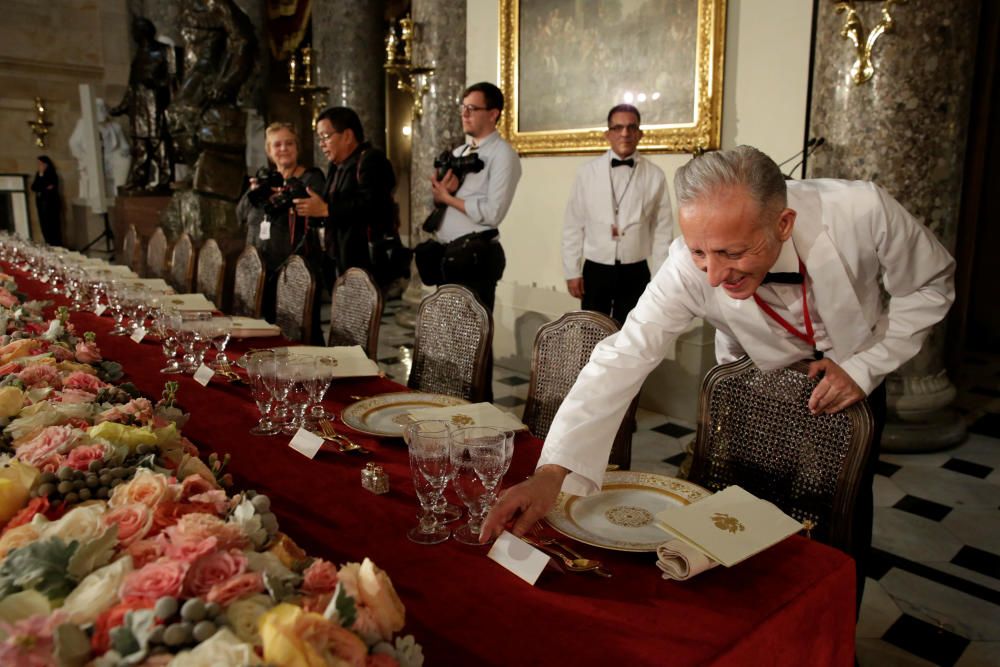
[[[563,222],[563,273],[579,278],[585,259],[598,264],[649,260],[656,273],[673,238],[670,190],[663,170],[638,152],[634,167],[611,167],[611,150],[577,172]],[[618,202],[617,214],[615,203]],[[611,233],[618,227],[618,236]]]

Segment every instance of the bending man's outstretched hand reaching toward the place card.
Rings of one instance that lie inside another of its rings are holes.
[[[479,531],[479,541],[495,539],[513,522],[515,535],[524,535],[555,505],[559,489],[569,471],[562,466],[544,465],[535,474],[500,494]]]

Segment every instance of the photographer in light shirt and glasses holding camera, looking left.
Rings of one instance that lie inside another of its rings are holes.
[[[462,129],[467,142],[435,160],[431,191],[438,209],[424,223],[443,247],[430,262],[418,257],[420,276],[428,285],[457,283],[472,290],[493,310],[497,281],[506,266],[497,227],[507,215],[521,178],[521,162],[496,125],[503,93],[492,83],[465,89]],[[425,247],[426,250],[426,247]]]

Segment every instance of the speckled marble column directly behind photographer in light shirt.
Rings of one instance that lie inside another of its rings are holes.
[[[413,119],[411,135],[410,219],[413,228],[419,230],[434,208],[428,183],[434,158],[465,140],[458,112],[466,86],[465,1],[413,0],[411,16],[415,33],[413,62],[434,68],[428,80],[429,90],[424,95],[423,115]],[[422,231],[417,236],[414,241],[426,238]],[[422,298],[423,284],[413,267],[410,284],[403,294],[406,307],[396,315],[399,324],[413,326]]]

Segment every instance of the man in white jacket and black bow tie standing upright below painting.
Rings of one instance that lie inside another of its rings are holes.
[[[608,112],[604,137],[611,148],[577,172],[563,222],[569,293],[585,310],[619,323],[663,264],[673,237],[667,179],[636,151],[640,122],[630,104]]]

